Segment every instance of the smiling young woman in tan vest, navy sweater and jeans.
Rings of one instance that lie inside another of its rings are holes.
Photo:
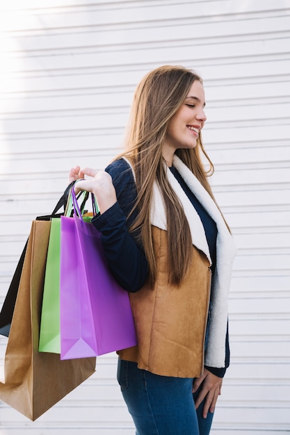
[[[118,352],[118,381],[137,435],[209,434],[229,366],[235,247],[207,180],[204,106],[195,72],[154,69],[136,89],[122,155],[104,172],[70,171],[75,190],[97,198],[92,223],[129,291],[138,346]]]

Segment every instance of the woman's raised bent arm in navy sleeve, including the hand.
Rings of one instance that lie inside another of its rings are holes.
[[[76,174],[76,172],[78,172]],[[132,236],[129,225],[134,215],[127,217],[136,202],[134,177],[126,161],[115,161],[106,172],[76,167],[70,171],[70,180],[89,175],[92,179],[79,180],[75,190],[93,192],[100,214],[92,224],[101,232],[102,245],[113,277],[125,290],[136,292],[145,284],[148,263],[138,233]]]

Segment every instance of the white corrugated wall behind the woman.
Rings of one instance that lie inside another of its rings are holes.
[[[290,2],[10,0],[0,11],[0,302],[31,220],[52,211],[70,167],[104,167],[120,149],[140,78],[192,67],[214,192],[239,247],[212,432],[289,434]],[[0,435],[133,435],[115,362],[99,358],[36,422],[0,403]]]

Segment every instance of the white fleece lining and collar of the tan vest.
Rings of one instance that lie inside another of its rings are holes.
[[[127,159],[125,159],[127,161]],[[127,163],[130,165],[129,161]],[[218,229],[218,236],[216,240],[216,271],[214,274],[213,289],[212,289],[212,310],[211,310],[211,324],[209,329],[209,341],[207,352],[205,355],[205,365],[215,368],[225,367],[225,336],[227,332],[227,298],[229,292],[229,284],[232,274],[232,263],[236,254],[236,245],[229,233],[225,221],[223,220],[218,207],[211,199],[207,190],[205,190],[193,175],[191,170],[177,156],[173,157],[173,166],[176,167],[179,174],[186,182],[188,188],[191,189],[195,197],[205,208],[207,213],[216,222]],[[133,174],[134,171],[132,170]],[[192,242],[195,247],[200,249],[209,258],[209,247],[207,245],[207,238],[204,233],[204,227],[200,220],[198,213],[191,204],[191,201],[186,196],[182,186],[180,186],[177,179],[167,168],[167,176],[170,185],[179,197],[184,213],[188,220],[191,229]],[[135,175],[134,175],[135,178]],[[160,228],[167,229],[166,210],[163,203],[163,198],[157,183],[154,183],[152,208],[151,208],[151,223],[152,225]]]

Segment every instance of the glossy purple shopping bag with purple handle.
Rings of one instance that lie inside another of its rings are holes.
[[[74,217],[61,216],[61,359],[137,344],[129,295],[113,279],[100,233],[81,216],[74,190],[72,197]]]

